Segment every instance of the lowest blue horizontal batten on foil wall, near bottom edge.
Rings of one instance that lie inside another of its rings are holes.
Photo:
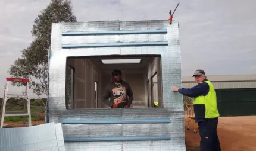
[[[64,137],[64,142],[105,142],[105,141],[145,141],[145,140],[170,140],[166,136],[113,136],[113,137]]]

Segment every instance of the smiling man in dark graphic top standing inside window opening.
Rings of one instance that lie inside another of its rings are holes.
[[[103,102],[111,108],[129,108],[133,101],[130,85],[123,81],[120,70],[113,70],[112,79],[103,95]],[[110,98],[110,100],[109,100]]]

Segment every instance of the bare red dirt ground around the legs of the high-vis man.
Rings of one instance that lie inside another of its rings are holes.
[[[185,134],[187,151],[199,151],[199,130],[198,133],[193,133],[191,130],[186,130],[187,120],[185,118]],[[220,117],[218,123],[218,137],[222,151],[254,151],[256,150],[256,117]]]

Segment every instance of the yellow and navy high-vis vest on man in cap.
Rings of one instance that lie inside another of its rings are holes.
[[[219,117],[217,107],[217,97],[213,84],[210,81],[204,81],[209,85],[209,92],[206,96],[198,96],[194,98],[193,108],[195,118],[216,118]],[[201,82],[202,83],[202,82]]]

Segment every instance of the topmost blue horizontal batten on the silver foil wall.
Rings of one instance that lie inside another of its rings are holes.
[[[110,35],[110,34],[167,34],[167,30],[109,30],[109,31],[67,31],[62,36]]]

